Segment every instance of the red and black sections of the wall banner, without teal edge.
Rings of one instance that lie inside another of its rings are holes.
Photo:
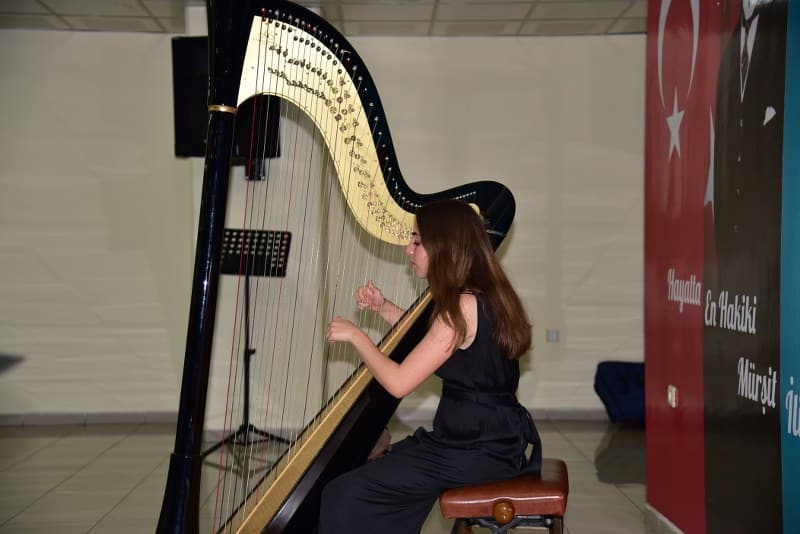
[[[786,9],[649,3],[647,490],[687,533],[781,531]]]

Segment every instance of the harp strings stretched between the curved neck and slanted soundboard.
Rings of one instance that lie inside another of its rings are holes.
[[[255,87],[246,88],[253,95],[278,92],[277,77],[270,71],[280,69],[279,58],[266,53],[268,41],[259,43],[260,74]],[[271,44],[285,50],[306,46],[286,32],[280,32],[278,41]],[[337,52],[338,65],[346,53]],[[323,62],[321,55],[313,57],[317,58],[314,69],[325,69],[331,79],[337,78],[338,73],[330,70],[330,63]],[[360,79],[356,87],[360,91]],[[357,194],[359,177],[352,172],[351,145],[332,127],[335,110],[323,99],[298,89],[281,104],[269,99],[264,106],[254,106],[253,117],[269,113],[269,106],[275,105],[280,105],[280,156],[266,157],[270,135],[251,131],[251,139],[258,142],[250,149],[248,161],[263,161],[265,178],[245,182],[241,227],[290,234],[290,252],[285,276],[274,276],[275,272],[268,270],[266,276],[248,279],[240,275],[237,280],[223,434],[237,431],[244,404],[249,401],[249,422],[268,436],[246,435],[241,443],[221,447],[213,484],[213,530],[221,528],[237,509],[257,502],[260,487],[251,494],[253,488],[269,478],[278,457],[293,454],[299,433],[317,424],[322,408],[359,367],[360,358],[348,344],[325,342],[331,318],[341,315],[353,320],[374,341],[387,332],[388,326],[377,314],[355,313],[356,287],[374,279],[386,298],[401,305],[413,301],[423,289],[421,284],[405,283],[402,248],[369,235],[350,214],[345,196]],[[368,121],[373,139],[380,140],[382,132],[374,126],[373,108],[359,107],[355,113],[355,120]],[[337,132],[328,139],[330,146],[322,130]],[[350,160],[339,168],[351,171],[338,176],[333,159]],[[394,169],[381,165],[377,162],[367,172],[378,179],[391,176]],[[248,175],[253,174],[251,167]],[[241,182],[232,180],[231,188],[235,187],[242,187]],[[253,272],[255,256],[244,258],[251,264],[243,264],[241,271]],[[242,354],[251,349],[246,384]],[[249,398],[244,394],[247,385]]]

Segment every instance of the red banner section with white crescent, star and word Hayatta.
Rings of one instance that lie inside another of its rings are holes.
[[[651,0],[647,32],[645,361],[649,503],[705,532],[704,227],[723,7]],[[710,226],[709,226],[710,228]],[[712,249],[713,250],[713,249]]]

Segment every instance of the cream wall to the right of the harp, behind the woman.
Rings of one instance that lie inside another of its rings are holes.
[[[604,416],[597,362],[644,359],[645,36],[353,44],[413,189],[495,179],[516,197],[501,254],[535,324],[523,403],[540,417]],[[433,409],[437,388],[401,413]]]

